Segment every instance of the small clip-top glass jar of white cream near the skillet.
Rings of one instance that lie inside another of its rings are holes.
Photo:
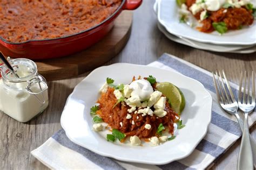
[[[19,122],[28,122],[48,107],[48,86],[37,73],[36,63],[28,59],[10,61],[19,76],[2,66],[0,110]]]

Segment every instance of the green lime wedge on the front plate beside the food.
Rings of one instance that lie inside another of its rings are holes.
[[[185,97],[182,91],[169,82],[157,83],[156,89],[169,99],[171,108],[180,115],[185,107]]]

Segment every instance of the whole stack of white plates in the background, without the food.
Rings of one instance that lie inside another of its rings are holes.
[[[180,23],[175,0],[156,0],[154,12],[157,15],[159,30],[172,41],[215,52],[256,52],[256,20],[251,26],[228,31],[220,36],[216,31],[203,33]]]

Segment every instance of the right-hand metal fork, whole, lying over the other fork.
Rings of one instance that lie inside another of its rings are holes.
[[[242,133],[242,141],[238,156],[238,169],[253,169],[253,155],[252,147],[250,144],[250,132],[248,128],[248,114],[255,108],[255,80],[254,72],[252,72],[252,91],[250,102],[250,76],[248,74],[248,85],[247,85],[247,101],[246,101],[246,72],[244,72],[244,94],[242,96],[242,73],[239,84],[239,95],[238,95],[238,106],[245,113],[244,121],[244,132]]]

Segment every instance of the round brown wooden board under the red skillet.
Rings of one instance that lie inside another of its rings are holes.
[[[130,37],[131,25],[132,12],[123,11],[115,20],[109,34],[92,47],[63,58],[36,61],[39,74],[47,81],[60,80],[103,65],[126,45]]]

